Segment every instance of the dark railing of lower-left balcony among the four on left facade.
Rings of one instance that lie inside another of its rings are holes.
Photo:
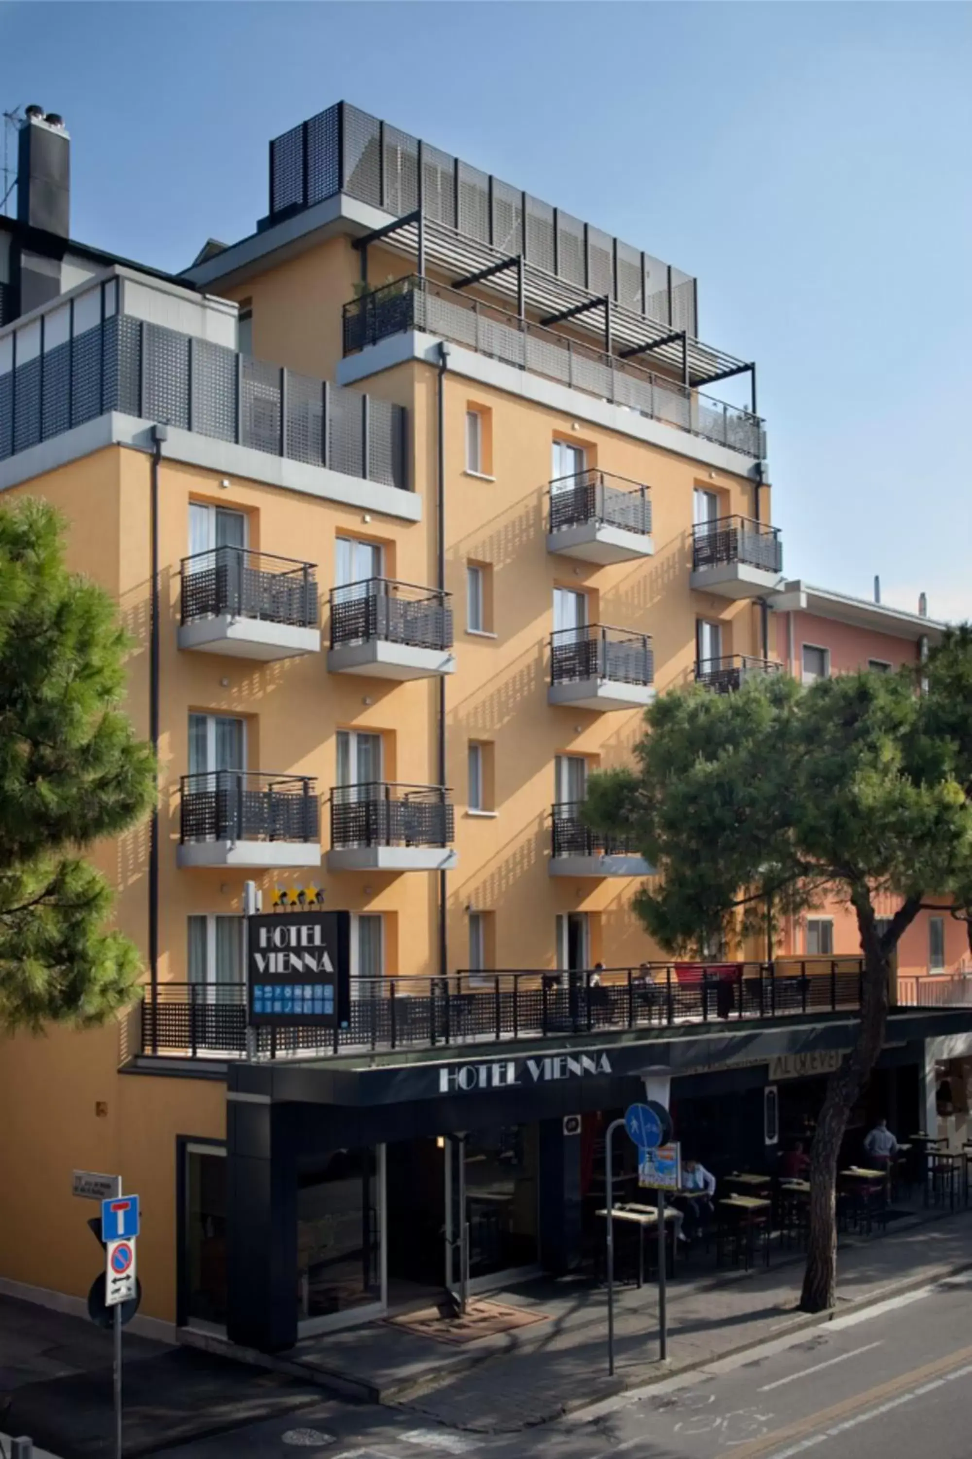
[[[182,842],[321,839],[316,782],[306,775],[210,770],[181,781]]]

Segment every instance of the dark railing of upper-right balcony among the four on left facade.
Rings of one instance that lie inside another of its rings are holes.
[[[331,648],[342,643],[407,643],[452,648],[449,592],[391,578],[364,578],[331,588]]]

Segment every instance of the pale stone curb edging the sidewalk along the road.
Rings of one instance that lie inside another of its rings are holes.
[[[720,1352],[713,1352],[710,1357],[691,1358],[685,1363],[666,1361],[665,1364],[656,1364],[647,1370],[638,1371],[637,1374],[630,1374],[627,1377],[619,1377],[615,1374],[614,1379],[603,1379],[603,1388],[599,1393],[584,1393],[577,1398],[567,1398],[555,1404],[552,1408],[538,1411],[535,1418],[525,1420],[517,1424],[477,1424],[475,1421],[468,1424],[456,1424],[449,1420],[440,1418],[434,1412],[428,1412],[421,1408],[421,1405],[408,1404],[405,1401],[392,1401],[393,1408],[401,1408],[404,1411],[423,1414],[426,1418],[440,1424],[443,1428],[456,1430],[459,1433],[472,1434],[516,1434],[526,1428],[536,1428],[541,1424],[549,1424],[558,1418],[571,1418],[574,1415],[583,1414],[589,1408],[596,1408],[599,1404],[606,1402],[611,1398],[618,1398],[621,1393],[637,1392],[643,1388],[651,1388],[656,1383],[665,1383],[672,1377],[681,1377],[683,1373],[694,1373],[707,1369],[711,1363],[721,1363],[723,1358],[739,1357],[743,1352],[755,1351],[756,1348],[767,1347],[768,1342],[778,1342],[780,1338],[791,1336],[796,1332],[803,1332],[809,1328],[822,1328],[834,1317],[845,1317],[854,1312],[864,1312],[867,1307],[877,1307],[882,1301],[887,1301],[889,1297],[901,1297],[908,1291],[918,1291],[922,1287],[934,1287],[938,1282],[947,1280],[949,1277],[956,1277],[959,1272],[972,1271],[972,1261],[943,1263],[941,1266],[933,1268],[931,1271],[922,1272],[921,1277],[905,1278],[904,1281],[889,1282],[874,1291],[867,1293],[864,1297],[855,1297],[844,1303],[841,1307],[828,1307],[825,1312],[800,1313],[794,1316],[790,1322],[780,1323],[774,1328],[771,1334],[762,1334],[758,1338],[750,1338],[746,1342],[737,1342],[730,1348],[723,1348]],[[488,1361],[484,1358],[484,1361]],[[442,1385],[439,1385],[442,1386]],[[431,1388],[431,1392],[436,1386]]]

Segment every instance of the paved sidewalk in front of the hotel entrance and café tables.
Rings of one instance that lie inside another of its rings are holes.
[[[879,1301],[972,1266],[972,1214],[918,1220],[895,1234],[854,1240],[838,1256],[838,1310]],[[657,1294],[621,1287],[615,1377],[608,1377],[606,1293],[586,1281],[536,1281],[490,1300],[545,1320],[449,1347],[388,1322],[297,1344],[278,1369],[324,1388],[427,1415],[453,1428],[509,1433],[681,1369],[756,1347],[820,1317],[797,1310],[801,1255],[774,1250],[750,1272],[711,1271],[669,1285],[669,1363],[657,1363]],[[255,1361],[271,1361],[256,1358]]]

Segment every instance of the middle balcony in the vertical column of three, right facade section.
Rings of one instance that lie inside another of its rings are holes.
[[[644,709],[654,699],[647,633],[600,623],[551,633],[548,703],[571,709]]]

